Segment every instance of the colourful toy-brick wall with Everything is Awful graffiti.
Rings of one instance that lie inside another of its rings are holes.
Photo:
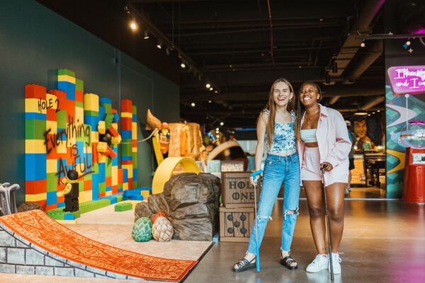
[[[83,81],[67,69],[57,71],[55,90],[26,85],[25,100],[26,202],[47,211],[64,207],[62,180],[72,170],[80,204],[137,188],[137,110],[131,100],[121,101],[119,116],[110,98],[84,94]]]

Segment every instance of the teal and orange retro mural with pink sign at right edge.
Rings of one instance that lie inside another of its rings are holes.
[[[412,120],[425,121],[425,66],[390,67],[387,106],[387,197],[402,197],[406,148],[400,133]]]

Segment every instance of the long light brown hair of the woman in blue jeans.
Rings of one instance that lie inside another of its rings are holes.
[[[268,102],[265,107],[265,109],[268,109],[268,121],[266,125],[266,132],[267,132],[267,144],[269,148],[271,148],[271,144],[274,137],[275,115],[276,115],[276,102],[274,100],[273,92],[274,92],[274,89],[276,88],[276,84],[278,83],[286,83],[290,93],[294,94],[293,99],[290,100],[290,102],[288,103],[287,110],[288,111],[295,110],[295,93],[294,93],[293,86],[290,84],[290,82],[287,79],[283,79],[283,78],[277,79],[271,85],[270,92],[268,93]]]

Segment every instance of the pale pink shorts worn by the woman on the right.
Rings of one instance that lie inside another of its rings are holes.
[[[348,161],[348,159],[347,159]],[[348,164],[348,163],[347,163]],[[342,166],[344,167],[344,163]],[[324,185],[328,186],[333,183],[348,183],[348,168],[346,174],[342,173],[342,168],[336,166],[330,172],[324,172]],[[321,181],[322,172],[320,171],[320,156],[318,147],[305,146],[304,156],[302,158],[301,179],[303,181]]]

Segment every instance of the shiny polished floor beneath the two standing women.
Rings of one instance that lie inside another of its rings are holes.
[[[261,272],[232,272],[246,243],[218,243],[186,279],[198,282],[331,282],[329,272],[305,272],[316,251],[312,241],[307,204],[300,201],[293,258],[300,268],[286,270],[279,264],[282,201],[273,209],[273,221],[261,246]],[[399,201],[346,201],[344,237],[340,248],[342,274],[335,282],[425,282],[425,206]]]

